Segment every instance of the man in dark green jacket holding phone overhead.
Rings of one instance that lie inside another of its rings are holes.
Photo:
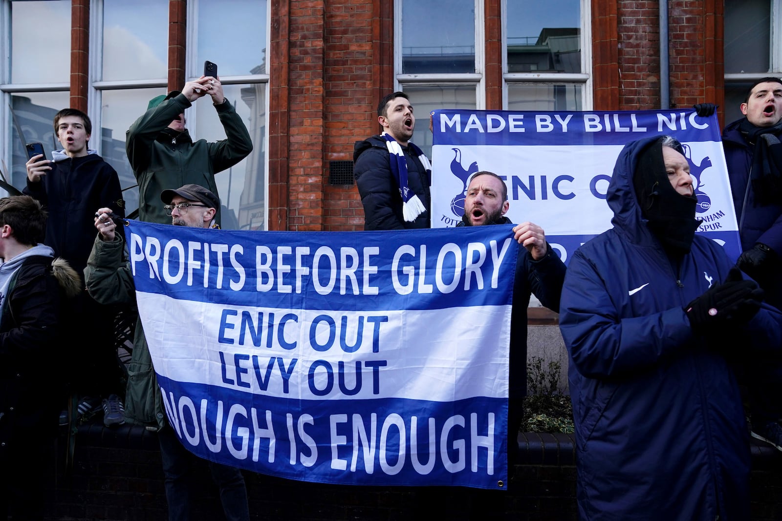
[[[204,73],[185,83],[181,91],[152,98],[147,111],[127,130],[125,149],[138,181],[138,218],[142,221],[170,223],[157,200],[167,187],[199,184],[217,194],[214,174],[234,166],[253,151],[247,127],[223,95],[217,65],[206,62]],[[185,109],[206,95],[212,99],[225,129],[222,141],[193,141],[185,129]]]

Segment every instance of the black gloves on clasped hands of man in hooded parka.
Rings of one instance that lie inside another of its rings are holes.
[[[743,280],[737,267],[730,268],[722,284],[713,284],[685,306],[690,326],[698,333],[709,329],[740,326],[760,309],[763,291],[754,280]]]

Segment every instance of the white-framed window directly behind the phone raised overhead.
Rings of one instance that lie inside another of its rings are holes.
[[[241,13],[241,16],[237,16]],[[222,205],[222,227],[267,230],[268,126],[271,2],[267,0],[191,0],[188,2],[186,75],[203,75],[204,62],[217,64],[223,94],[242,117],[253,152],[215,181]],[[225,139],[211,103],[201,100],[185,119],[193,140]]]

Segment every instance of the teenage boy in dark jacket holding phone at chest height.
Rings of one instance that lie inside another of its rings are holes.
[[[52,152],[52,161],[34,155],[27,161],[27,187],[23,193],[41,202],[48,212],[44,243],[66,259],[82,276],[95,240],[95,209],[109,207],[124,217],[117,171],[95,150],[88,148],[92,123],[77,109],[63,109],[54,116],[54,130],[63,148]],[[84,281],[82,280],[82,287]],[[99,318],[99,319],[96,319]],[[120,366],[114,345],[113,310],[95,304],[86,291],[74,300],[68,322],[77,331],[79,348],[69,359],[74,393],[81,398],[79,412],[95,412],[105,398],[107,425],[122,423]],[[76,414],[76,412],[72,412]],[[61,423],[66,422],[66,416]]]

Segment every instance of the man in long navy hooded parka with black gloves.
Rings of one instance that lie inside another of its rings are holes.
[[[562,287],[579,514],[750,519],[731,358],[779,346],[782,315],[719,244],[694,235],[687,159],[663,141],[622,149],[613,228],[576,251]]]

